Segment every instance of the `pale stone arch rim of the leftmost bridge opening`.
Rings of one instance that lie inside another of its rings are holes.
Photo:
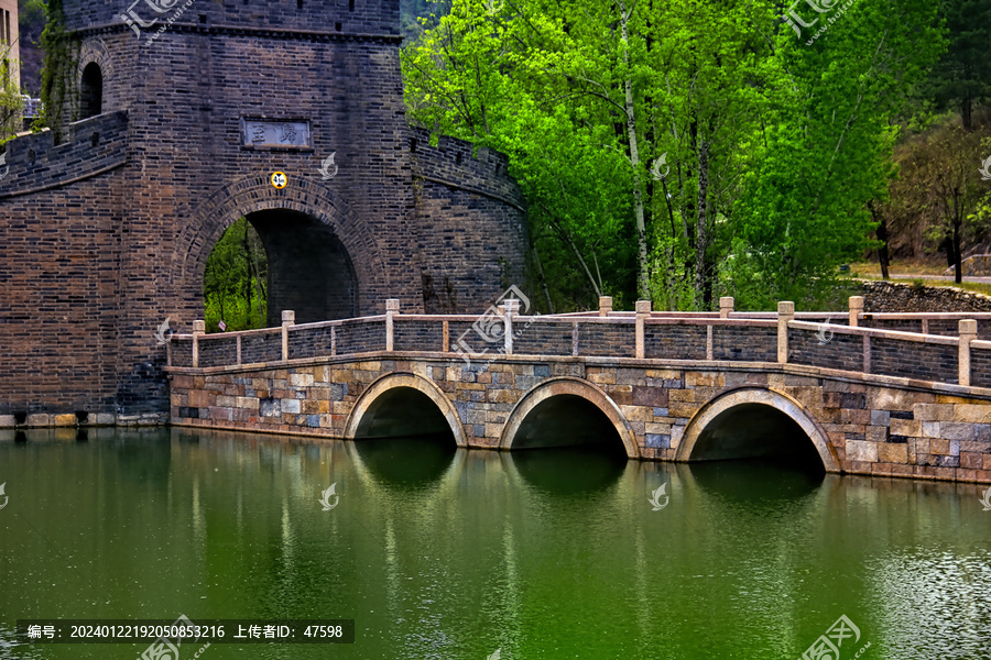
[[[388,406],[398,397],[403,396],[412,398],[414,403],[426,404],[424,398],[429,399],[450,429],[455,444],[468,447],[468,438],[461,427],[461,420],[447,395],[432,381],[410,373],[386,374],[372,382],[351,408],[345,426],[345,438],[356,440],[372,431],[375,415],[381,411],[382,406]],[[431,410],[426,413],[428,414]],[[410,422],[417,424],[418,420],[410,420]]]

